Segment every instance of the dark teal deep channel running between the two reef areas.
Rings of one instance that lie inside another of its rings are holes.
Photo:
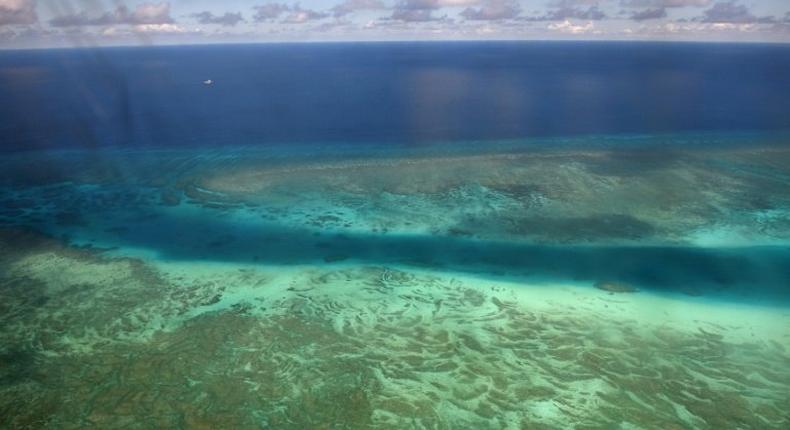
[[[275,265],[405,265],[547,282],[622,282],[638,288],[790,302],[790,249],[578,246],[452,236],[320,232],[214,216],[163,214],[116,243],[164,260]]]

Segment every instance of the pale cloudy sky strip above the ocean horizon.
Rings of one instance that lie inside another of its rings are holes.
[[[0,49],[398,40],[790,42],[790,0],[0,0]]]

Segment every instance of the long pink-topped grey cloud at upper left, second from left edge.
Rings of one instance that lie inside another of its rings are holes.
[[[53,27],[81,27],[92,25],[149,25],[149,24],[172,24],[173,18],[170,16],[170,3],[143,3],[129,10],[126,6],[118,6],[111,12],[106,12],[98,16],[91,16],[85,11],[61,15],[49,21]]]

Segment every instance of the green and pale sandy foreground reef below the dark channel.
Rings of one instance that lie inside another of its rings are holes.
[[[782,310],[0,239],[4,428],[790,424]]]

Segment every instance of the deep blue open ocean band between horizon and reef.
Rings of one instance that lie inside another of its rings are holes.
[[[213,80],[207,86],[204,80]],[[790,128],[790,47],[487,42],[0,52],[5,149]]]

